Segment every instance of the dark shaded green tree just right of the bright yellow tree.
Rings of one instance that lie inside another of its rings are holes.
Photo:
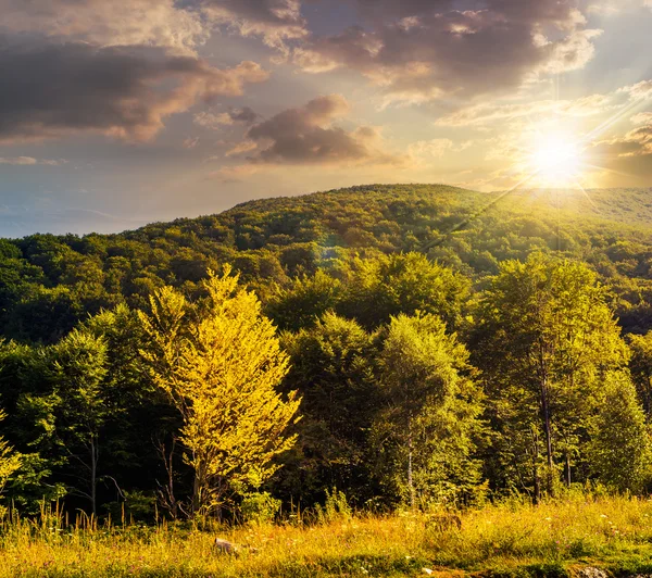
[[[378,332],[329,312],[314,327],[285,334],[283,345],[292,364],[284,388],[301,393],[303,414],[284,486],[303,500],[334,487],[352,500],[373,498],[368,432],[379,405]]]

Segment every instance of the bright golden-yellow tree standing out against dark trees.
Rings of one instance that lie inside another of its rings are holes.
[[[153,378],[183,417],[184,460],[195,472],[191,512],[218,511],[229,492],[260,487],[277,469],[274,458],[296,436],[300,400],[276,386],[289,369],[276,329],[254,293],[238,288],[227,267],[210,272],[205,298],[190,303],[166,287],[140,312]]]

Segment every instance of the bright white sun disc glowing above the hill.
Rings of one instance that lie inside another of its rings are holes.
[[[569,135],[541,135],[532,147],[529,164],[539,180],[569,185],[581,175],[582,151]]]

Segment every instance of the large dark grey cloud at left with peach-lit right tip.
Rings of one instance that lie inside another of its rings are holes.
[[[0,142],[98,133],[148,140],[197,101],[238,96],[268,74],[253,62],[214,68],[162,48],[96,48],[0,38]]]

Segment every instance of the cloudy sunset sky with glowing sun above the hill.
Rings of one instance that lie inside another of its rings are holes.
[[[0,236],[651,187],[652,0],[0,0]]]

